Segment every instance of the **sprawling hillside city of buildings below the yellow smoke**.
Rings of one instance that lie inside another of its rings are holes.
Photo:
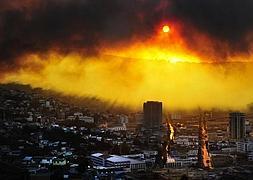
[[[0,86],[1,179],[250,179],[253,111],[97,110]],[[8,168],[7,168],[8,167]]]

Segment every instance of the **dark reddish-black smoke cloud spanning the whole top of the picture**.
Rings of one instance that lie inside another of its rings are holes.
[[[148,38],[165,19],[228,42],[230,51],[250,50],[252,0],[1,0],[0,62],[52,49],[95,54],[103,45]],[[192,32],[182,31],[198,48]]]

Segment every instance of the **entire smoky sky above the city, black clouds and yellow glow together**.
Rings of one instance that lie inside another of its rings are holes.
[[[240,110],[253,102],[252,11],[252,0],[2,0],[0,82]]]

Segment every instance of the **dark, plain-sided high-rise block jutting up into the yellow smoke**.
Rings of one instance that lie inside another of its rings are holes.
[[[147,101],[143,104],[144,126],[159,129],[162,124],[162,102]]]

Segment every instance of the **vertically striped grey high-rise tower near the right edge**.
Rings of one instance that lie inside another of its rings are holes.
[[[230,138],[239,140],[245,137],[245,114],[240,112],[229,113]]]

